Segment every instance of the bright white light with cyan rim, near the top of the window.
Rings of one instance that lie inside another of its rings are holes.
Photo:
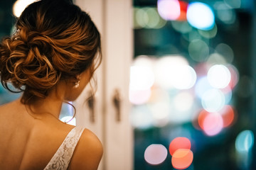
[[[200,30],[210,30],[215,25],[213,10],[201,2],[188,4],[187,19],[191,26]]]

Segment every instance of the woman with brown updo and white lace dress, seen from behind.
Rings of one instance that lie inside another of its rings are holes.
[[[101,60],[100,33],[68,0],[29,5],[0,46],[0,78],[23,91],[0,106],[0,169],[97,169],[102,145],[87,129],[58,120]],[[100,59],[100,60],[97,60]]]

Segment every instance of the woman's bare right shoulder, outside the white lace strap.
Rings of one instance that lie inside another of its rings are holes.
[[[68,169],[96,170],[102,159],[103,147],[98,137],[88,129],[82,132]]]

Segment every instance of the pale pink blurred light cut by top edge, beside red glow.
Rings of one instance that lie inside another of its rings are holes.
[[[158,0],[157,9],[159,15],[165,20],[176,20],[181,15],[178,0]]]

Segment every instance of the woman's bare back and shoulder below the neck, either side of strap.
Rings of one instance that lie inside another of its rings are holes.
[[[72,128],[52,115],[33,118],[18,101],[0,106],[0,169],[44,169]],[[82,168],[90,157],[95,163]],[[100,141],[85,130],[68,169],[97,169],[101,157]]]

